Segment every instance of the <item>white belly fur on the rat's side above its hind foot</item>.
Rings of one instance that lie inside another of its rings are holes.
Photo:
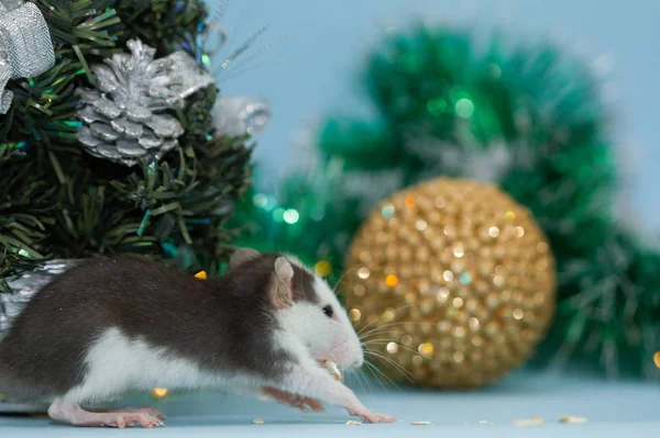
[[[253,385],[248,375],[222,375],[202,371],[165,348],[129,339],[118,328],[108,329],[87,352],[84,382],[64,397],[72,402],[102,402],[130,390],[221,389]]]

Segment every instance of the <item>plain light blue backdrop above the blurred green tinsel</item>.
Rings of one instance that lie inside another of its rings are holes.
[[[624,196],[631,209],[624,217],[639,215],[645,228],[660,231],[658,0],[230,0],[222,20],[229,45],[220,55],[263,25],[270,29],[251,52],[287,37],[251,71],[219,76],[224,96],[271,102],[272,125],[258,136],[255,153],[261,186],[300,164],[295,147],[318,128],[319,117],[333,111],[370,114],[359,87],[361,59],[385,30],[419,18],[551,38],[600,66],[616,120],[610,130],[628,176]]]

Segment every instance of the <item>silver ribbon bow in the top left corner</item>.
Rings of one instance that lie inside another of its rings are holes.
[[[0,0],[0,114],[11,106],[10,79],[41,75],[55,64],[51,32],[36,4]]]

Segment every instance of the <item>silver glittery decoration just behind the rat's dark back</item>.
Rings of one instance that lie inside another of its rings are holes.
[[[76,259],[50,260],[40,263],[32,271],[6,279],[13,293],[0,293],[0,338],[4,336],[13,318],[38,290],[80,261]]]

